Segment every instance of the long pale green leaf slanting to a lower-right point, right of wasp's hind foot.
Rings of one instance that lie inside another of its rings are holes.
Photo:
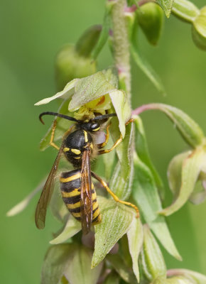
[[[143,219],[151,227],[161,244],[172,256],[181,259],[175,247],[170,231],[163,216],[157,214],[162,209],[153,175],[149,168],[134,154],[133,197],[141,211]]]

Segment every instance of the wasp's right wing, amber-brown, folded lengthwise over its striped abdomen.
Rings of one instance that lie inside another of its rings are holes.
[[[89,233],[93,216],[90,153],[90,149],[87,148],[82,154],[80,212],[83,234]]]

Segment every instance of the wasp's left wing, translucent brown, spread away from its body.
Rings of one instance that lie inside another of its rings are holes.
[[[58,170],[58,164],[60,163],[60,158],[62,153],[63,153],[63,145],[60,147],[57,158],[55,159],[55,163],[53,164],[53,167],[50,170],[50,174],[48,175],[48,179],[45,182],[43,191],[41,192],[40,195],[40,199],[38,200],[36,213],[35,213],[35,223],[38,229],[43,229],[45,226],[46,210],[50,202],[50,197],[53,194],[55,175]]]

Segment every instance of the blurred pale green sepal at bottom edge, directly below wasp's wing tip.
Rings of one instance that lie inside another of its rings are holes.
[[[70,284],[96,284],[102,271],[103,263],[91,270],[92,251],[85,246],[77,245],[70,263],[65,269],[65,277]]]

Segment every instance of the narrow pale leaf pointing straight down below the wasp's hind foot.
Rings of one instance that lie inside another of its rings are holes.
[[[133,219],[129,231],[127,231],[127,238],[129,244],[129,252],[133,263],[133,271],[136,276],[136,280],[139,283],[139,266],[138,258],[143,244],[143,228],[140,219]]]

